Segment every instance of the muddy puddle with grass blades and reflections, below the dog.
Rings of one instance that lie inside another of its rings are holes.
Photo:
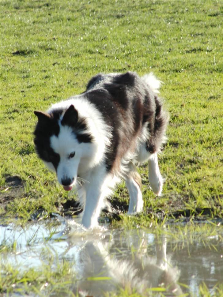
[[[57,288],[54,292],[56,284],[46,281],[42,275],[38,293],[37,289],[32,290],[32,284],[23,287],[25,282],[19,278],[10,288],[3,287],[1,293],[120,296],[125,292],[125,295],[143,296],[199,296],[199,286],[204,283],[214,296],[216,284],[223,283],[223,230],[219,226],[217,233],[213,233],[212,227],[212,224],[206,226],[203,234],[196,231],[196,227],[177,228],[176,224],[166,226],[162,232],[141,228],[86,231],[75,221],[60,217],[31,222],[24,228],[1,225],[3,284],[9,274],[7,267],[17,269],[22,279],[30,269],[38,271],[48,265],[50,271],[57,271],[67,261],[69,273],[73,273],[72,281],[60,284],[61,291]]]

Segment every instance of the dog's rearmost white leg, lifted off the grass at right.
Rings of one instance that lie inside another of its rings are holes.
[[[148,160],[149,167],[149,183],[153,190],[153,192],[157,196],[161,196],[162,188],[163,188],[163,178],[160,173],[160,169],[158,166],[158,158],[157,153],[153,153]]]

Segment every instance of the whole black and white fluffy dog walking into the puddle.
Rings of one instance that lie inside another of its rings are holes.
[[[153,73],[97,74],[82,94],[47,112],[34,111],[36,152],[64,190],[76,187],[84,227],[98,225],[106,197],[121,179],[130,196],[128,214],[142,211],[138,164],[148,161],[150,186],[161,195],[157,152],[166,139],[168,114],[157,95],[160,86]]]

